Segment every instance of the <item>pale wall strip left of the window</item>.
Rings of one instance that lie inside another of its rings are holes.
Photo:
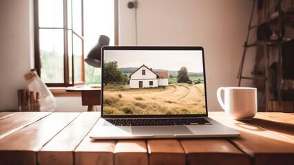
[[[0,111],[17,110],[17,89],[33,65],[32,0],[0,1]]]

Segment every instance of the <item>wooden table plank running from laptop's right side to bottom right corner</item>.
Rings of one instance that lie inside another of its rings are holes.
[[[211,112],[210,117],[241,133],[231,142],[253,157],[253,164],[293,164],[294,144],[286,138],[247,122],[232,120],[225,113]]]

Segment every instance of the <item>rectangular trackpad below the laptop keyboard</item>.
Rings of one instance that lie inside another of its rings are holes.
[[[133,135],[193,134],[186,126],[132,126]]]

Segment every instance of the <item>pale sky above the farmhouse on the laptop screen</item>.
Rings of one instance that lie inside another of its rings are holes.
[[[104,61],[117,61],[118,67],[140,67],[178,71],[187,67],[188,72],[203,72],[200,50],[105,50]]]

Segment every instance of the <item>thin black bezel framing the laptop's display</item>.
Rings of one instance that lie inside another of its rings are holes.
[[[205,114],[176,114],[176,115],[103,115],[103,63],[105,50],[201,50],[203,63],[203,78],[204,78],[204,93],[205,93]],[[160,46],[103,46],[101,50],[101,118],[196,118],[207,117],[207,89],[206,89],[206,75],[204,64],[204,50],[203,47],[160,47]]]

